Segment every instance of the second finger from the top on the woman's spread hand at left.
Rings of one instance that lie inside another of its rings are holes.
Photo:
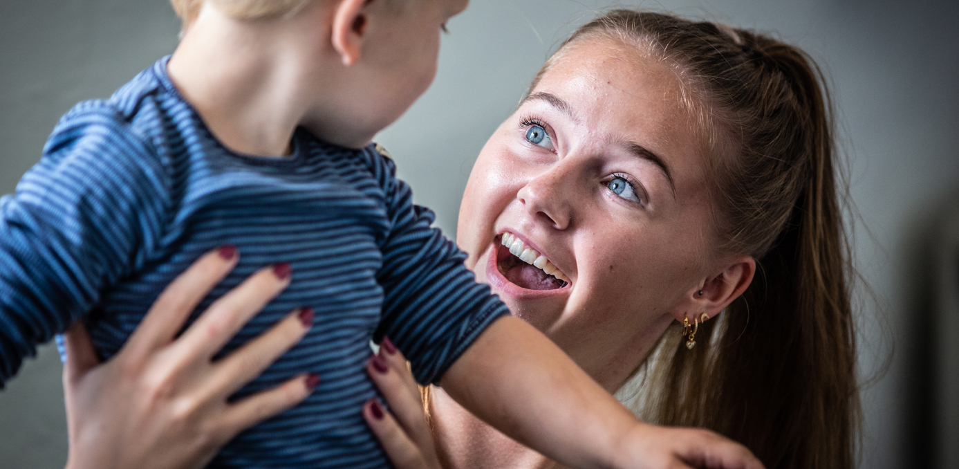
[[[178,340],[186,353],[212,357],[277,294],[290,285],[290,265],[274,264],[250,275],[203,312]]]

